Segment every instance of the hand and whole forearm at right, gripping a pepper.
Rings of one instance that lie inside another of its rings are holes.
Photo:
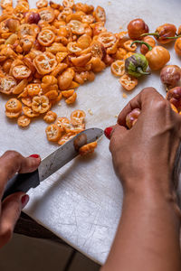
[[[126,117],[135,108],[140,115],[129,130]],[[181,116],[156,89],[147,88],[105,132],[110,132],[110,152],[125,193],[117,234],[101,271],[181,270],[181,212],[173,182]]]

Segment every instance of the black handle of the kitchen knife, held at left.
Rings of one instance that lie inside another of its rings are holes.
[[[3,200],[14,192],[28,192],[39,184],[38,169],[33,173],[15,174],[6,184]]]

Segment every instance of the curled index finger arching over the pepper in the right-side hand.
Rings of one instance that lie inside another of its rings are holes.
[[[126,126],[127,115],[135,108],[142,109],[143,111],[152,106],[157,100],[163,99],[163,97],[154,88],[143,89],[139,94],[131,99],[126,107],[122,109],[118,117],[118,124],[120,126]]]

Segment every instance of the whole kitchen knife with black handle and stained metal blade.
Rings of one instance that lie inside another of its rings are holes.
[[[103,135],[100,128],[90,128],[74,136],[64,145],[60,146],[52,154],[43,159],[38,169],[33,173],[16,173],[12,179],[7,182],[3,200],[14,192],[28,192],[31,188],[37,187],[40,182],[47,179],[52,173],[55,173],[63,165],[69,163],[79,154],[79,148],[82,145],[94,142]]]

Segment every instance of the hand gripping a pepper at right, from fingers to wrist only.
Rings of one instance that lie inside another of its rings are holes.
[[[126,117],[134,109],[141,113],[129,130]],[[143,89],[120,112],[110,134],[114,168],[125,192],[152,186],[172,192],[172,173],[180,143],[181,116],[156,89]],[[155,185],[156,184],[156,185]]]

